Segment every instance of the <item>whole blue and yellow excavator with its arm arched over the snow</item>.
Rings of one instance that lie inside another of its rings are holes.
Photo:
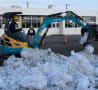
[[[10,20],[13,16],[15,15],[20,15],[22,14],[21,12],[7,12],[3,14],[3,18],[6,19],[6,24],[4,31],[5,33],[1,37],[1,44],[0,44],[0,56],[3,55],[10,55],[10,54],[19,54],[24,47],[29,47],[28,43],[26,41],[26,36],[23,34],[22,30],[19,30],[15,33],[11,33],[9,30],[9,23]],[[66,14],[64,16],[61,16],[62,14]],[[42,24],[40,25],[35,37],[33,43],[33,48],[39,48],[43,39],[45,38],[48,30],[49,30],[49,25],[53,22],[59,22],[63,20],[71,20],[72,22],[80,25],[82,27],[82,34],[85,32],[90,32],[90,36],[93,36],[95,38],[95,30],[91,28],[91,26],[85,25],[83,23],[83,19],[75,14],[72,11],[66,11],[66,12],[60,12],[52,15],[48,15],[44,17]],[[46,31],[44,35],[42,36],[40,43],[38,44],[38,38],[40,37],[42,31],[44,28],[46,28]]]

